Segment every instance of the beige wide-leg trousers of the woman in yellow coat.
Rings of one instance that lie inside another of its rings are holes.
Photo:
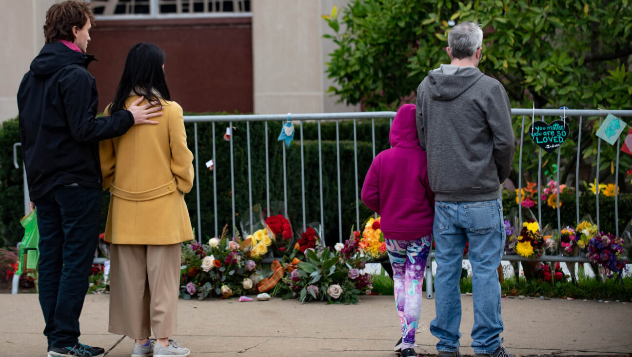
[[[178,323],[181,243],[111,245],[109,332],[171,337]]]

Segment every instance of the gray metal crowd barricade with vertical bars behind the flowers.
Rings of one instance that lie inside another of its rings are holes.
[[[579,124],[580,124],[580,140],[578,140],[578,155],[577,155],[577,162],[576,162],[576,177],[578,176],[578,171],[579,171],[579,162],[580,162],[580,147],[581,147],[581,122],[583,120],[583,118],[589,117],[589,116],[599,116],[600,118],[600,123],[601,123],[601,119],[602,117],[604,117],[605,115],[607,115],[608,113],[613,114],[615,116],[618,117],[630,117],[632,116],[632,110],[628,110],[628,111],[601,111],[601,110],[575,110],[575,109],[569,109],[566,111],[562,111],[560,109],[511,109],[511,114],[512,116],[522,116],[522,125],[521,128],[523,128],[523,130],[521,130],[521,135],[520,135],[520,164],[519,164],[519,168],[518,168],[518,188],[522,187],[522,156],[523,156],[523,142],[525,140],[524,138],[524,134],[525,134],[525,130],[524,130],[524,126],[525,126],[525,117],[528,116],[537,116],[538,118],[542,118],[544,119],[545,117],[549,117],[549,116],[553,116],[553,117],[557,117],[557,116],[562,116],[562,114],[566,114],[566,117],[569,118],[567,120],[571,120],[570,118],[579,118]],[[325,222],[324,222],[324,207],[323,207],[323,190],[322,190],[322,152],[321,152],[321,132],[320,132],[320,124],[322,123],[322,121],[335,121],[336,122],[336,162],[337,162],[337,195],[338,195],[338,223],[339,223],[339,242],[343,241],[343,229],[342,229],[342,200],[341,200],[341,186],[340,186],[340,136],[339,136],[339,121],[341,120],[353,120],[353,145],[354,145],[354,165],[355,165],[355,199],[356,199],[356,203],[360,203],[360,198],[358,197],[358,190],[360,187],[360,177],[358,176],[358,156],[357,156],[357,136],[356,136],[356,122],[358,121],[358,119],[371,119],[371,124],[372,124],[372,149],[373,149],[373,157],[375,157],[375,119],[376,118],[389,118],[390,122],[392,123],[392,119],[395,116],[395,112],[391,112],[391,111],[383,111],[383,112],[342,112],[342,113],[323,113],[323,114],[246,114],[246,115],[221,115],[221,116],[185,116],[185,123],[193,123],[194,126],[194,133],[195,133],[195,181],[196,181],[196,195],[197,195],[197,238],[199,241],[201,241],[202,239],[202,224],[201,224],[201,219],[200,217],[201,215],[201,207],[200,207],[200,183],[199,183],[199,159],[198,159],[198,130],[197,130],[197,123],[212,123],[212,135],[215,138],[216,137],[216,131],[215,131],[215,124],[216,123],[228,123],[229,126],[233,126],[233,122],[238,123],[238,122],[245,122],[246,123],[246,142],[245,143],[240,143],[240,145],[246,145],[247,147],[247,152],[248,152],[248,202],[250,204],[250,207],[252,207],[252,162],[250,160],[250,123],[251,122],[260,122],[260,121],[264,121],[265,123],[265,182],[266,182],[266,199],[265,199],[265,204],[266,207],[268,209],[270,209],[270,167],[269,167],[269,143],[268,143],[268,125],[267,122],[268,121],[286,121],[286,120],[291,120],[291,121],[298,121],[300,123],[300,133],[301,133],[301,140],[300,140],[300,150],[301,150],[301,203],[302,203],[302,207],[303,207],[303,212],[302,212],[302,217],[303,217],[303,229],[305,229],[306,226],[306,217],[305,217],[305,157],[303,155],[303,150],[304,150],[304,143],[303,143],[303,121],[317,121],[318,124],[318,146],[319,146],[319,182],[320,182],[320,224],[322,227],[325,226]],[[231,190],[234,193],[234,158],[233,158],[233,135],[230,136],[230,160],[231,160]],[[17,146],[19,146],[19,143],[16,143],[13,147],[14,150],[14,164],[15,167],[19,167],[18,166],[18,162],[17,162]],[[276,145],[283,145],[283,143],[276,143]],[[597,160],[599,160],[599,155],[600,155],[600,145],[601,145],[601,139],[599,139],[599,150],[597,152]],[[618,172],[619,169],[619,150],[621,148],[621,144],[619,143],[619,140],[617,140],[617,158],[616,158],[616,172]],[[215,140],[212,140],[212,150],[213,150],[213,158],[215,159],[216,157],[216,144],[215,144]],[[285,147],[283,147],[283,160],[285,162],[286,160],[286,153],[285,153]],[[559,167],[559,160],[560,160],[560,149],[557,149],[557,164]],[[538,195],[540,193],[540,188],[542,186],[542,182],[541,182],[541,178],[542,178],[542,149],[538,150],[538,162],[539,162],[539,167],[538,167]],[[599,161],[598,161],[599,162]],[[285,167],[285,165],[284,165]],[[214,234],[215,236],[217,236],[218,234],[218,222],[217,222],[217,173],[216,173],[217,169],[213,170],[213,202],[214,202]],[[25,175],[26,176],[26,175]],[[557,171],[557,181],[559,182],[559,169]],[[575,187],[576,187],[576,215],[577,215],[577,219],[579,221],[580,219],[580,210],[579,210],[579,183],[578,183],[578,179],[575,180]],[[26,185],[26,178],[24,180],[24,185],[25,185],[25,212],[28,212],[28,190],[27,190],[27,185]],[[599,185],[599,170],[597,170],[597,185]],[[615,207],[616,210],[618,210],[618,178],[616,179],[616,190],[615,190]],[[283,171],[283,191],[284,191],[284,203],[286,205],[286,212],[287,212],[287,204],[288,204],[288,195],[287,195],[287,186],[288,186],[288,178],[287,178],[287,172]],[[559,185],[558,185],[558,190],[559,190]],[[518,190],[518,200],[521,201],[522,197],[521,196],[521,191]],[[559,191],[558,191],[558,197],[559,197]],[[231,212],[233,213],[232,215],[232,225],[233,225],[233,234],[234,234],[234,227],[236,227],[236,222],[235,222],[235,201],[234,201],[234,195],[232,195],[232,202],[231,202]],[[356,224],[357,227],[361,227],[360,226],[360,212],[359,212],[359,205],[356,204]],[[252,217],[252,209],[250,210],[250,222],[253,221],[253,217]],[[561,222],[560,222],[560,215],[559,215],[559,206],[557,207],[557,227],[558,227],[558,231],[561,231]],[[519,221],[520,224],[522,223],[522,207],[519,204],[518,205],[518,214],[519,214]],[[616,235],[619,235],[619,224],[618,224],[618,220],[619,220],[619,215],[618,212],[615,212],[615,220],[616,220]],[[599,216],[599,190],[597,190],[597,226],[599,226],[599,220],[600,220],[600,216]],[[540,207],[540,200],[538,200],[538,224],[540,224],[540,227],[542,226],[542,209]],[[324,238],[324,237],[323,237]],[[426,277],[426,291],[427,291],[427,298],[430,299],[432,298],[432,270],[430,269],[431,267],[431,262],[432,262],[432,258],[434,257],[434,253],[431,253],[430,256],[428,257],[428,263],[427,263],[427,272],[430,272],[430,274],[427,274]],[[528,259],[528,258],[523,258],[520,257],[518,255],[504,255],[502,257],[502,260],[520,260],[520,261],[529,261],[532,259]],[[536,261],[540,261],[540,262],[568,262],[568,263],[576,263],[576,262],[588,262],[588,258],[585,257],[563,257],[562,255],[544,255],[540,258],[535,259]]]

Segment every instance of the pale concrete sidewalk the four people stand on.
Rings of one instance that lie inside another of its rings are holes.
[[[463,296],[461,353],[469,347],[471,296]],[[419,353],[435,354],[428,331],[434,300],[423,300]],[[133,342],[107,332],[109,296],[88,295],[81,341],[130,356]],[[296,300],[180,300],[178,336],[191,356],[396,356],[399,322],[392,296],[365,296],[358,305],[300,304]],[[632,303],[507,299],[504,346],[521,356],[611,356],[632,352]],[[44,319],[36,294],[0,294],[0,356],[46,356]]]

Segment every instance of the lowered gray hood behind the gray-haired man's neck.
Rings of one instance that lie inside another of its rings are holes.
[[[428,88],[434,100],[453,100],[476,83],[483,73],[476,67],[441,64],[428,73]]]

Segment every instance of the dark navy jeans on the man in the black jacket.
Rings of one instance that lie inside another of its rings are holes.
[[[58,186],[35,202],[39,229],[39,301],[51,347],[75,346],[88,275],[99,240],[101,191]]]

